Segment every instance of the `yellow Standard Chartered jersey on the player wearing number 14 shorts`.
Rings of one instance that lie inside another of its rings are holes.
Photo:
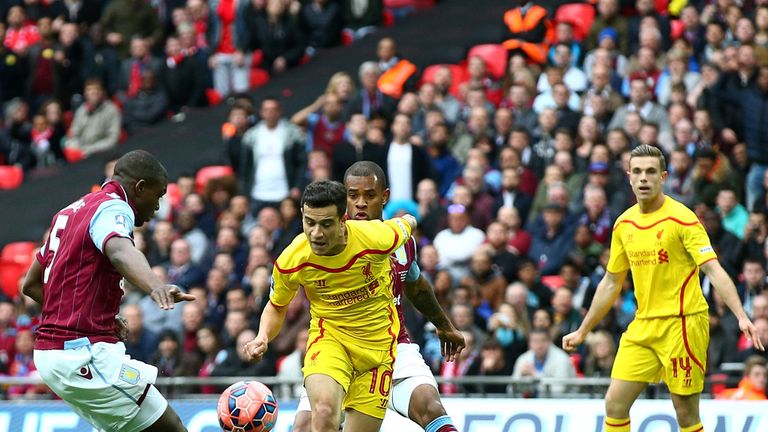
[[[635,204],[616,219],[608,271],[632,271],[637,318],[691,315],[708,308],[699,266],[713,259],[699,219],[667,196],[653,213],[641,213]]]

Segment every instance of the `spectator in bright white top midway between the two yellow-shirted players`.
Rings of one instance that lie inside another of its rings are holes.
[[[448,228],[440,231],[434,240],[440,256],[440,265],[448,269],[456,280],[465,276],[475,249],[483,243],[483,231],[469,224],[467,208],[461,204],[448,207]]]

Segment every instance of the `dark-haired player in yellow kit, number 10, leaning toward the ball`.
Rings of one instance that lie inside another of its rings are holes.
[[[307,186],[304,233],[280,254],[259,334],[245,346],[260,360],[277,336],[299,287],[310,303],[304,385],[312,430],[378,432],[389,403],[397,332],[389,255],[408,241],[416,219],[346,221],[346,192],[338,182]]]

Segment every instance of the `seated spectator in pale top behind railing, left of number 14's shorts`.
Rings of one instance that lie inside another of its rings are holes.
[[[528,336],[528,351],[517,358],[512,376],[573,378],[576,376],[576,370],[568,354],[552,344],[549,332],[534,328]],[[549,386],[548,391],[559,394],[565,389],[564,385],[556,384]]]

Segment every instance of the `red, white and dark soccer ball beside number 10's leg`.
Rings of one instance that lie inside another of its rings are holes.
[[[219,397],[219,425],[228,432],[268,432],[277,421],[277,401],[258,381],[240,381]]]

